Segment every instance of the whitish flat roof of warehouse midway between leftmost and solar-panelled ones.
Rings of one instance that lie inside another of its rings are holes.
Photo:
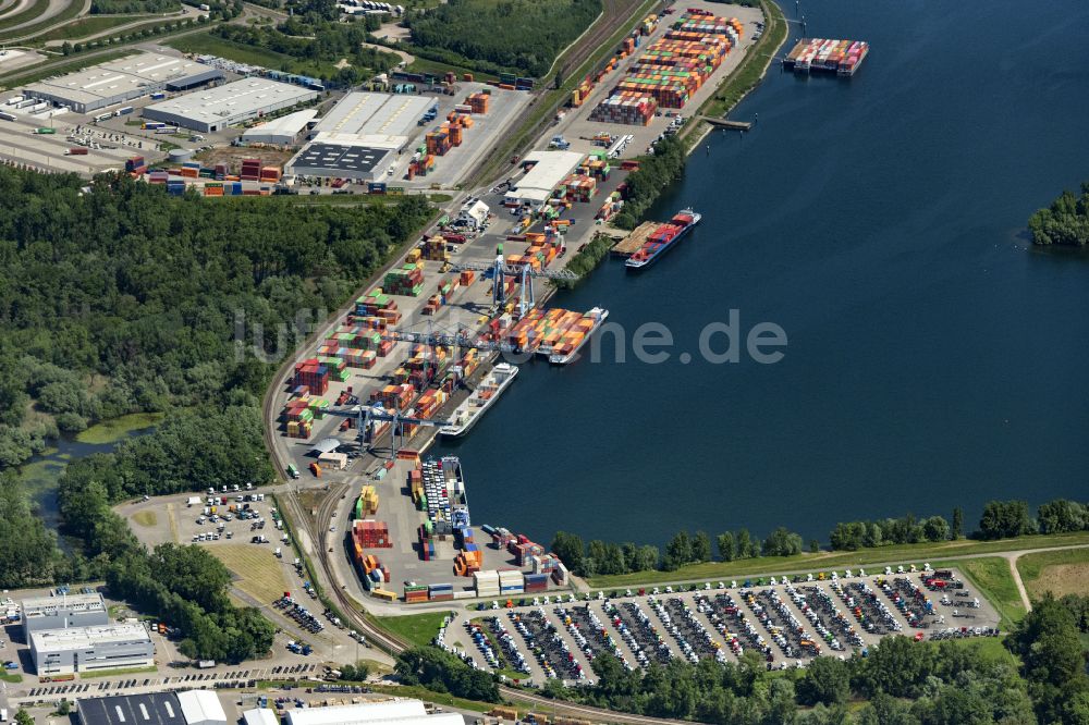
[[[159,101],[146,110],[213,123],[254,113],[274,103],[290,106],[315,96],[316,90],[303,86],[253,77]]]

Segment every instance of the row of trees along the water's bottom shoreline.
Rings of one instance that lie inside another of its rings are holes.
[[[942,516],[918,519],[911,514],[900,518],[839,523],[829,534],[833,551],[857,551],[891,544],[939,542],[964,537],[964,514],[953,509],[953,523]],[[1042,504],[1033,520],[1025,501],[990,501],[983,507],[979,529],[972,533],[978,539],[1000,539],[1027,533],[1066,533],[1089,530],[1089,505],[1059,499]],[[779,527],[766,539],[758,539],[748,529],[726,531],[715,538],[720,561],[732,562],[757,556],[793,556],[805,548],[802,534],[786,527]],[[811,553],[820,551],[820,542],[809,541]],[[558,531],[551,551],[567,568],[578,576],[628,574],[662,569],[673,572],[687,564],[713,560],[711,539],[703,531],[689,534],[677,532],[662,554],[657,546],[636,545],[632,542],[607,543],[600,540],[584,544],[575,533]]]

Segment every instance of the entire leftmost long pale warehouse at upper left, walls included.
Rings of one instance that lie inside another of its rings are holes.
[[[93,113],[173,88],[192,88],[219,75],[208,66],[184,58],[137,53],[99,63],[75,73],[32,83],[25,96],[66,106],[76,113]]]

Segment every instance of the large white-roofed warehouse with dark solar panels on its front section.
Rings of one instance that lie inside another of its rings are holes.
[[[383,181],[435,103],[425,96],[351,93],[318,121],[310,131],[313,140],[285,164],[285,171],[301,176]]]

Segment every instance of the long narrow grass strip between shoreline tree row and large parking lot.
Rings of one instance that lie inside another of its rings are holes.
[[[611,576],[591,577],[588,583],[598,589],[633,587],[636,585],[674,583],[693,580],[718,580],[750,574],[797,574],[819,570],[857,568],[874,564],[922,564],[935,560],[964,556],[967,554],[993,554],[995,552],[1043,549],[1069,544],[1089,544],[1089,531],[1055,536],[1030,536],[999,541],[946,541],[942,543],[901,544],[860,549],[858,551],[821,552],[796,556],[764,556],[736,562],[707,562],[692,564],[676,572],[637,572]]]

